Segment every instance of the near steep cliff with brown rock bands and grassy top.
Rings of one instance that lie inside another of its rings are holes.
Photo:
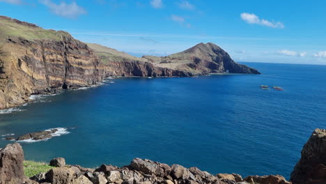
[[[95,84],[104,73],[93,50],[69,33],[0,17],[0,109],[31,94]]]

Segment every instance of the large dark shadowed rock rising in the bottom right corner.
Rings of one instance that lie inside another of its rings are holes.
[[[326,130],[313,132],[302,148],[290,181],[295,184],[326,183]]]

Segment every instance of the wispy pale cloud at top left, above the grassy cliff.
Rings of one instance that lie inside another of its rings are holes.
[[[71,4],[67,4],[65,2],[61,2],[60,4],[53,3],[51,0],[40,0],[40,3],[49,7],[49,9],[55,15],[59,15],[61,17],[75,18],[79,15],[86,14],[86,10],[81,6],[78,6],[76,2],[72,2]]]

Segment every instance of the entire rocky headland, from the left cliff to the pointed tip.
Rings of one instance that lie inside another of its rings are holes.
[[[170,56],[138,58],[82,43],[65,31],[0,16],[0,109],[22,105],[33,94],[91,86],[110,76],[191,77],[210,72],[259,74],[235,63],[213,43]]]

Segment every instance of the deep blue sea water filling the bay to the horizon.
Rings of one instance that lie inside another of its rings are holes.
[[[212,174],[289,178],[311,132],[326,128],[326,66],[246,64],[263,75],[120,78],[65,91],[0,114],[0,135],[74,128],[22,142],[27,160],[63,157],[96,167],[138,157]],[[261,84],[285,91],[261,90]]]

